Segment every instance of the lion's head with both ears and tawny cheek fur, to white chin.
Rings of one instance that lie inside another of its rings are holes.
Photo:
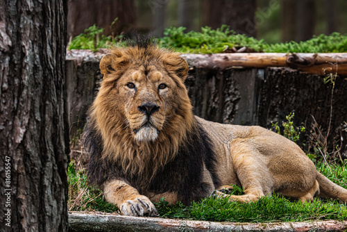
[[[183,84],[187,62],[168,51],[147,48],[144,53],[114,50],[100,64],[104,80],[98,97],[105,99],[101,110],[110,118],[104,120],[124,124],[138,142],[157,140],[174,120],[183,119],[183,105],[191,107]]]

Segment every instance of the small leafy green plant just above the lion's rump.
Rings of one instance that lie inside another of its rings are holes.
[[[295,114],[294,112],[292,112],[285,117],[287,121],[282,122],[283,131],[281,131],[278,122],[272,124],[272,126],[275,129],[275,131],[280,135],[285,136],[285,138],[289,138],[289,140],[293,142],[298,142],[298,140],[300,139],[301,132],[305,131],[305,126],[295,126],[293,122],[294,116]]]

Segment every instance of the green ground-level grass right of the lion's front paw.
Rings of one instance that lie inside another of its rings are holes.
[[[317,168],[332,181],[346,188],[346,165],[330,165],[332,172],[322,163]],[[232,194],[241,194],[241,192],[237,189]],[[340,201],[332,199],[314,199],[312,202],[291,201],[278,194],[246,204],[228,201],[227,198],[210,197],[193,202],[191,206],[183,206],[181,203],[170,206],[167,201],[161,199],[155,206],[160,217],[214,222],[303,222],[347,219],[346,203],[341,204]]]

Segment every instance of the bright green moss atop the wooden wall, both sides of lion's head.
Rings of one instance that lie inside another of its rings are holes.
[[[102,33],[103,28],[91,26],[85,30],[85,33],[71,40],[69,49],[96,51],[99,48],[124,45],[122,36],[112,38]],[[322,34],[304,42],[269,44],[265,40],[236,34],[226,25],[216,30],[205,26],[201,28],[201,32],[189,31],[187,33],[185,33],[184,27],[171,27],[164,31],[164,37],[158,39],[158,44],[160,47],[174,49],[181,53],[223,53],[242,47],[246,47],[246,51],[250,52],[325,53],[346,52],[347,36],[339,33]]]

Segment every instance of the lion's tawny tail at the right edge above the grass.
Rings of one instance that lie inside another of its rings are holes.
[[[317,181],[319,183],[319,197],[340,199],[347,202],[347,189],[333,183],[328,178],[318,172]]]

